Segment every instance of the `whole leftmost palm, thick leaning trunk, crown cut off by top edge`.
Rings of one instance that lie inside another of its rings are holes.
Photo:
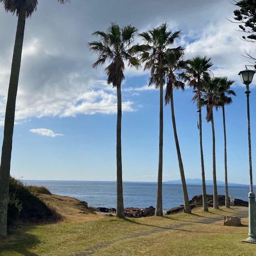
[[[64,4],[65,2],[69,2],[69,0],[58,0],[58,2]],[[32,13],[36,11],[38,1],[0,0],[0,3],[3,3],[6,12],[12,12],[13,14],[16,13],[16,15],[18,16],[4,119],[4,138],[2,144],[2,155],[0,164],[0,236],[6,237],[10,162],[12,154],[12,136],[14,129],[15,105],[20,74],[20,62],[24,38],[25,21],[26,18],[31,17]]]

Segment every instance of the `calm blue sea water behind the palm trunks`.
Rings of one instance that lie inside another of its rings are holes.
[[[62,196],[71,196],[96,207],[116,207],[116,182],[104,181],[46,181],[25,180],[27,185],[45,186]],[[187,185],[188,196],[202,194],[200,185]],[[148,207],[156,205],[156,183],[124,182],[124,207]],[[212,186],[206,186],[207,194],[212,194]],[[248,201],[249,186],[229,186],[229,195]],[[225,194],[224,186],[218,186],[218,194]],[[163,210],[183,204],[180,184],[163,184]]]

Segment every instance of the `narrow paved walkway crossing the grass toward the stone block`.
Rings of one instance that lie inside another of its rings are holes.
[[[238,216],[240,218],[247,218],[248,217],[248,207],[232,206],[231,208],[234,209],[234,210],[238,210],[238,209],[241,210],[241,208],[242,208],[242,211],[236,213],[235,216]],[[203,218],[203,219],[198,220],[197,222],[194,222],[194,223],[212,224],[214,222],[218,222],[220,220],[223,220],[223,216],[224,215],[228,215],[228,214],[220,215],[220,217],[217,217],[217,218]],[[114,244],[115,242],[120,242],[120,241],[123,241],[123,240],[126,240],[126,239],[130,239],[130,238],[137,238],[137,237],[140,237],[140,236],[148,236],[150,234],[160,233],[160,232],[164,232],[166,230],[174,230],[174,229],[182,228],[184,226],[191,226],[191,225],[193,225],[192,222],[190,222],[190,223],[172,224],[172,225],[167,226],[167,227],[156,227],[156,228],[154,228],[152,230],[145,230],[145,231],[142,231],[142,232],[139,232],[139,233],[136,233],[136,234],[127,235],[127,236],[123,236],[121,238],[116,238],[116,239],[111,240],[111,241],[107,241],[107,242],[102,242],[102,243],[96,244],[94,246],[86,248],[86,250],[84,250],[83,252],[78,252],[78,253],[72,254],[70,256],[89,256],[89,255],[94,255],[100,249],[107,248],[108,246]]]

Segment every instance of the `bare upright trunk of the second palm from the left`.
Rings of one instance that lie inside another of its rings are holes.
[[[122,94],[121,85],[117,91],[117,120],[116,120],[116,216],[124,218],[123,181],[122,181],[122,148],[121,148],[121,120]]]

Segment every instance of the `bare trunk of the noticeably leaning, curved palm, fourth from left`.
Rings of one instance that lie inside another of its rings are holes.
[[[182,191],[183,191],[184,211],[186,213],[191,213],[190,203],[189,203],[189,199],[188,199],[188,190],[187,190],[186,179],[185,179],[185,174],[184,174],[184,168],[183,168],[182,158],[181,158],[181,154],[180,154],[180,145],[179,145],[179,140],[178,140],[178,135],[177,135],[177,130],[176,130],[172,88],[171,88],[171,92],[170,92],[170,102],[171,102],[171,113],[172,113],[172,127],[173,127],[174,140],[175,140],[176,151],[177,151],[177,156],[178,156],[178,163],[179,163],[179,168],[180,168],[180,178],[181,178]]]

